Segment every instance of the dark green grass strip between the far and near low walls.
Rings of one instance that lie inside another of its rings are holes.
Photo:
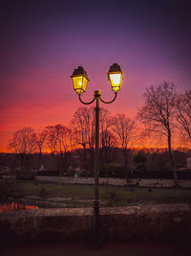
[[[38,198],[41,201],[63,204],[63,207],[89,207],[94,199],[94,185],[37,183],[15,181],[1,191],[1,198]],[[57,199],[59,198],[59,199]],[[191,189],[145,188],[102,185],[99,186],[102,206],[125,206],[139,203],[183,203],[191,202]],[[62,206],[61,206],[62,207]]]

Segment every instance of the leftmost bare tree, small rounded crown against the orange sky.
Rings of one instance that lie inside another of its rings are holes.
[[[20,155],[21,172],[30,168],[30,154],[35,151],[36,133],[32,128],[21,128],[12,134],[8,149]]]

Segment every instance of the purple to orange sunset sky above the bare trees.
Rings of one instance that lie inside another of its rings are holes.
[[[185,1],[4,1],[0,10],[0,151],[19,128],[68,124],[79,103],[70,76],[82,65],[110,100],[109,66],[124,81],[112,113],[133,115],[147,86],[191,89],[191,18]]]

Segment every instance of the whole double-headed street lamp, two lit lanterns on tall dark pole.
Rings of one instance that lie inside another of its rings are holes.
[[[95,151],[95,199],[94,199],[94,223],[93,223],[93,243],[98,246],[99,245],[99,200],[98,200],[98,172],[99,172],[99,100],[103,104],[111,104],[117,99],[117,92],[120,90],[123,72],[120,69],[120,66],[117,63],[114,63],[110,66],[109,72],[107,73],[108,80],[111,83],[112,90],[115,93],[115,97],[110,102],[105,102],[101,98],[101,91],[96,90],[94,92],[94,99],[91,102],[84,102],[81,99],[81,95],[86,91],[86,87],[88,84],[88,76],[86,71],[82,66],[78,66],[77,69],[74,69],[74,73],[71,76],[74,84],[74,90],[78,95],[79,101],[84,105],[91,105],[96,101],[96,151]]]

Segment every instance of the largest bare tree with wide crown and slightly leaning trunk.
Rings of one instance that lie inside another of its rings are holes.
[[[176,87],[164,81],[157,86],[150,86],[143,94],[145,104],[138,110],[138,118],[145,125],[148,134],[164,136],[168,142],[170,167],[173,169],[175,185],[178,176],[173,159],[171,141],[175,128]]]

